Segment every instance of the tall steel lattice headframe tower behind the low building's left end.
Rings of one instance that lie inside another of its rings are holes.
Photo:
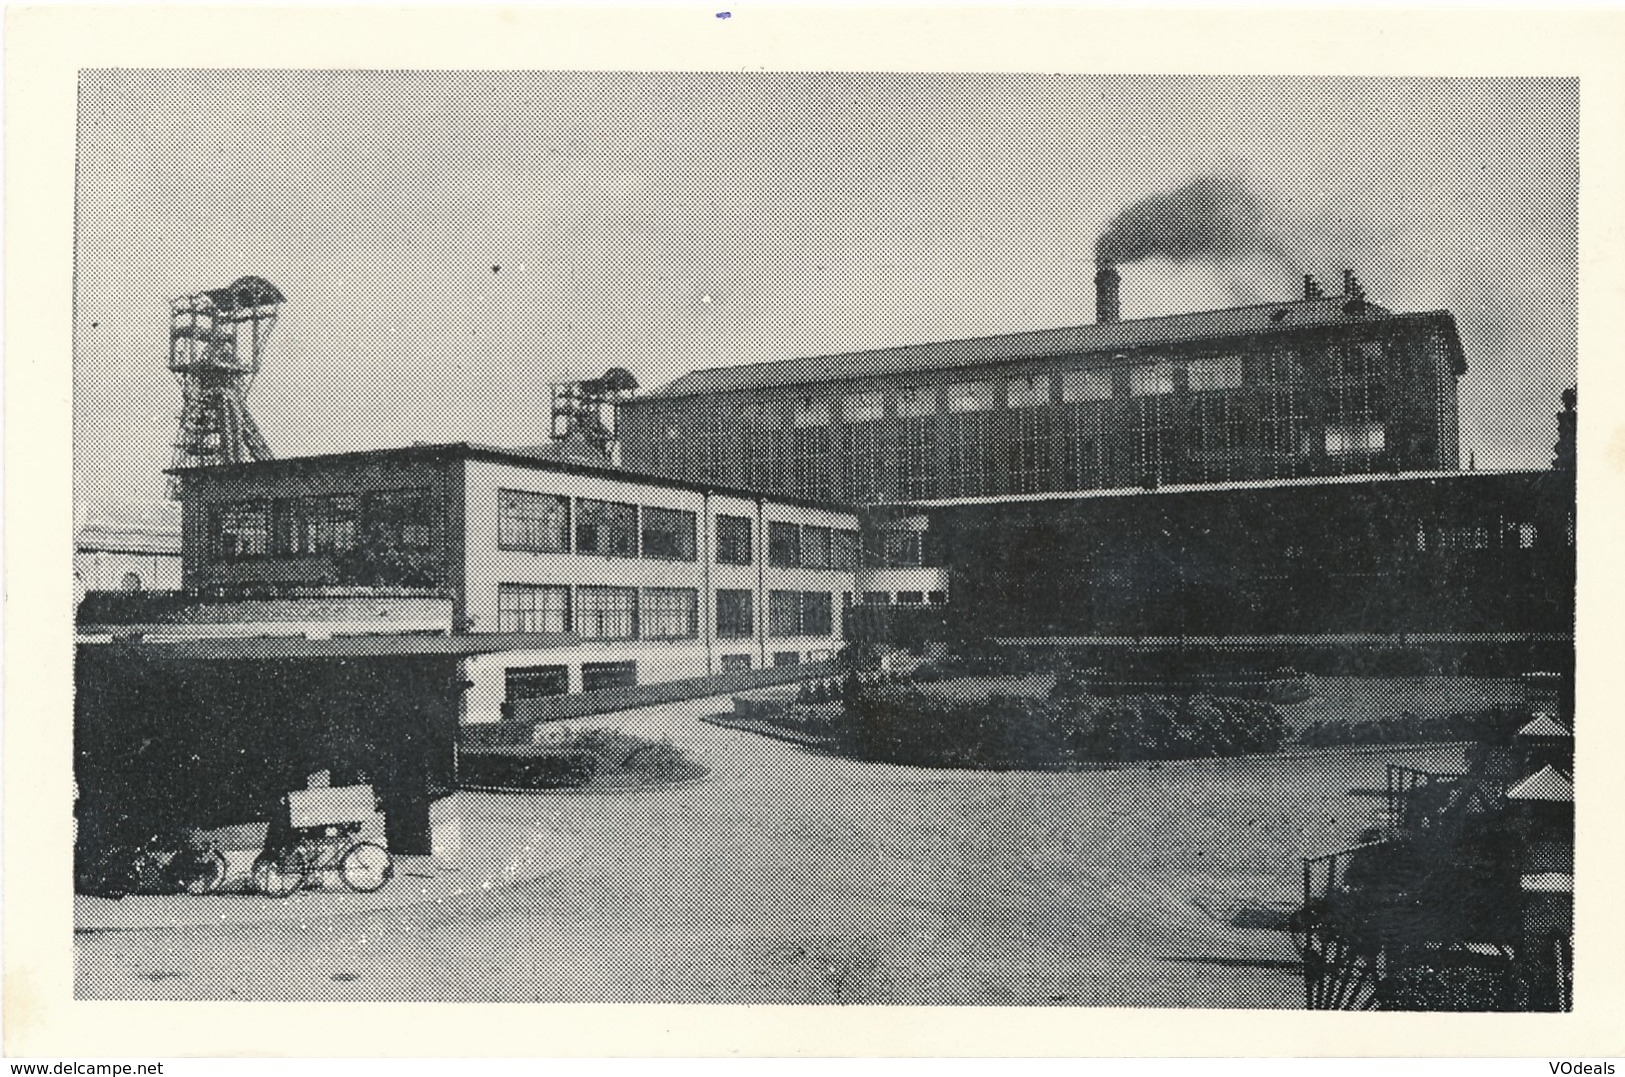
[[[276,286],[258,276],[171,301],[169,370],[182,398],[174,468],[271,458],[249,414],[249,390],[281,304]],[[171,476],[171,495],[177,482]]]

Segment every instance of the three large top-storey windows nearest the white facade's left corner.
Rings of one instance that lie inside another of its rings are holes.
[[[497,491],[499,549],[694,560],[694,534],[696,515],[682,508]]]

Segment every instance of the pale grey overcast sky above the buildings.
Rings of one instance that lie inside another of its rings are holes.
[[[1258,250],[1123,268],[1123,317],[1354,268],[1450,309],[1462,463],[1545,466],[1575,380],[1563,80],[93,71],[80,93],[75,473],[162,497],[167,302],[288,297],[273,452],[536,443],[548,382],[1081,325],[1094,244],[1216,174]]]

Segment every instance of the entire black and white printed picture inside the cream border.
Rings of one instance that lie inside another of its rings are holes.
[[[1581,78],[73,81],[75,1001],[1586,1009]]]

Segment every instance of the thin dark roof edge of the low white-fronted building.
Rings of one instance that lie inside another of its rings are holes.
[[[288,474],[297,471],[320,469],[328,466],[359,465],[370,461],[401,463],[450,463],[453,460],[484,460],[489,463],[505,463],[536,471],[559,471],[564,474],[592,474],[621,482],[642,482],[644,486],[665,486],[668,489],[697,491],[722,494],[725,497],[764,499],[778,505],[800,505],[803,508],[830,508],[834,512],[853,512],[852,505],[840,502],[814,500],[809,497],[793,497],[790,494],[772,494],[738,486],[717,486],[715,482],[692,482],[689,479],[673,479],[671,476],[650,471],[630,471],[614,465],[595,465],[578,460],[561,460],[546,448],[499,448],[496,445],[476,445],[471,442],[448,442],[439,445],[406,445],[403,448],[369,448],[349,453],[322,453],[314,456],[283,456],[280,460],[250,460],[229,465],[202,465],[195,468],[169,468],[166,474],[192,478],[236,478],[245,474]]]

